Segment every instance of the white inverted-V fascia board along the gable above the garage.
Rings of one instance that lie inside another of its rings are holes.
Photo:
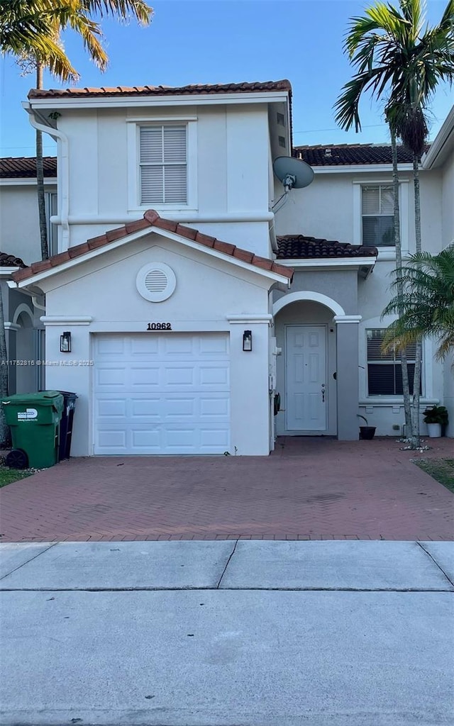
[[[154,226],[140,229],[139,232],[133,232],[132,234],[128,234],[126,237],[121,237],[118,240],[110,242],[108,245],[103,245],[102,247],[90,250],[86,254],[74,257],[56,267],[51,267],[51,269],[43,270],[43,272],[37,272],[35,275],[33,275],[33,277],[27,277],[25,280],[20,280],[20,282],[15,283],[15,285],[19,288],[29,287],[29,285],[36,285],[37,282],[41,282],[41,280],[46,280],[47,277],[52,277],[54,274],[65,272],[66,270],[71,269],[76,265],[99,257],[107,251],[116,250],[118,247],[121,247],[126,242],[129,244],[129,242],[134,242],[134,240],[139,240],[141,237],[145,237],[147,234],[153,233],[158,234],[161,237],[168,237],[169,240],[179,242],[180,244],[185,245],[185,247],[192,248],[193,250],[204,252],[211,257],[218,258],[219,260],[223,260],[225,262],[230,262],[231,264],[240,267],[241,269],[247,270],[248,272],[254,272],[261,277],[267,277],[268,280],[278,282],[280,283],[280,285],[285,285],[285,287],[289,286],[290,281],[288,280],[288,277],[284,277],[283,275],[277,274],[276,272],[272,272],[272,270],[264,270],[260,267],[256,267],[255,265],[248,264],[247,262],[243,262],[236,257],[226,255],[223,252],[219,252],[218,250],[214,250],[213,248],[206,247],[205,245],[200,245],[197,242],[188,240],[187,237],[182,237],[182,235],[180,234],[170,232],[168,229],[161,229],[160,227]]]

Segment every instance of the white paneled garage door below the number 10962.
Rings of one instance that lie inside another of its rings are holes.
[[[95,454],[223,454],[229,337],[94,335]]]

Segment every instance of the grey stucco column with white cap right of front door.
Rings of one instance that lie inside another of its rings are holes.
[[[337,436],[358,439],[358,325],[361,315],[336,315],[337,329]]]

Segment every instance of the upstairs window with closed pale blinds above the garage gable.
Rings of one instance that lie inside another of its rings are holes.
[[[186,126],[141,126],[140,203],[187,204]]]

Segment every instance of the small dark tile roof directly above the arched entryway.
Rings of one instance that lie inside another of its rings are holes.
[[[376,257],[376,247],[349,245],[333,240],[319,240],[304,234],[285,234],[277,237],[278,260],[327,259],[333,257]]]

